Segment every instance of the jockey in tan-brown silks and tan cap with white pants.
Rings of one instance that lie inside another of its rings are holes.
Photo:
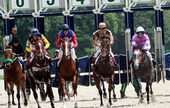
[[[103,33],[104,33],[104,35],[101,35]],[[93,58],[95,59],[95,63],[97,62],[100,52],[101,52],[100,45],[101,45],[103,36],[110,38],[110,44],[111,45],[113,44],[114,38],[113,38],[112,32],[107,28],[105,22],[100,22],[99,29],[93,33],[93,46],[96,50],[96,52],[94,53],[94,56],[93,56]],[[111,48],[110,48],[110,55],[113,58],[112,61],[113,61],[114,65],[117,65]]]

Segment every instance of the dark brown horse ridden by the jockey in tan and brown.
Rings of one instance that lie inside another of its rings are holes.
[[[96,83],[96,87],[100,94],[101,106],[103,106],[103,96],[100,83],[104,80],[108,81],[108,92],[109,92],[109,104],[111,101],[111,90],[113,90],[113,97],[116,99],[115,91],[113,89],[113,79],[114,79],[114,64],[110,56],[110,40],[109,38],[103,38],[101,42],[101,53],[98,57],[98,61],[93,66],[93,77]]]

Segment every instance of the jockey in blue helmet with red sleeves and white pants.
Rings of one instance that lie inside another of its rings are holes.
[[[59,31],[59,33],[57,33],[57,36],[56,36],[55,45],[56,45],[56,48],[59,51],[59,53],[58,53],[59,61],[58,61],[57,65],[59,66],[61,59],[62,59],[62,56],[63,56],[61,44],[62,44],[62,39],[64,37],[68,37],[71,41],[71,57],[76,62],[76,68],[78,69],[78,60],[77,60],[77,56],[76,56],[76,53],[75,53],[75,48],[77,48],[77,46],[78,46],[77,36],[76,36],[76,33],[73,30],[70,29],[68,24],[64,24],[62,31]]]

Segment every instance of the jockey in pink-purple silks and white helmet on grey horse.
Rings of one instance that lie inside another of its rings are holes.
[[[152,55],[149,52],[149,50],[151,49],[150,39],[148,34],[145,33],[145,29],[142,26],[136,28],[136,33],[132,37],[131,44],[133,49],[141,48],[142,50],[144,50],[150,60],[153,61]]]

